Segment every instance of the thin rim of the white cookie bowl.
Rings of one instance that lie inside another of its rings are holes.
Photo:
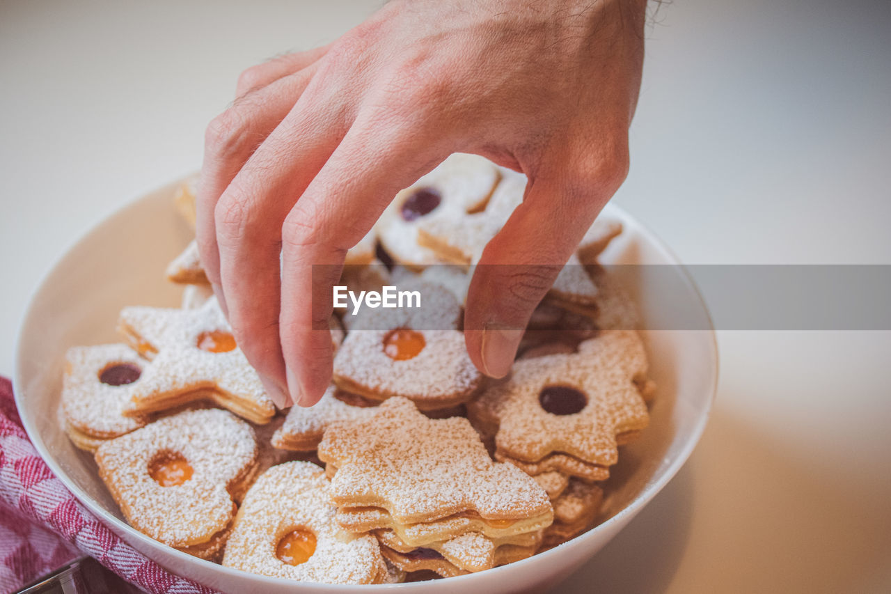
[[[89,238],[94,235],[96,231],[99,230],[100,227],[105,227],[111,224],[111,221],[114,219],[118,219],[119,217],[124,216],[127,210],[133,208],[137,203],[143,201],[151,201],[155,198],[152,198],[154,194],[158,194],[159,192],[165,190],[166,188],[175,188],[176,186],[184,183],[186,179],[192,177],[192,174],[178,177],[174,181],[170,181],[167,184],[163,184],[160,186],[153,186],[151,189],[146,190],[140,194],[138,194],[135,198],[128,200],[122,203],[119,207],[113,209],[106,216],[102,218],[98,223],[93,225],[92,227],[87,228],[78,234],[77,238],[69,243],[64,252],[61,253],[61,256],[53,261],[53,264],[50,265],[39,277],[37,284],[32,288],[29,293],[28,305],[24,310],[24,314],[20,318],[19,329],[15,334],[15,341],[13,343],[13,375],[12,375],[12,386],[13,386],[13,395],[15,399],[16,408],[19,410],[23,409],[23,400],[25,399],[25,388],[23,378],[20,376],[22,374],[22,364],[20,363],[20,347],[24,340],[24,334],[27,326],[29,326],[28,322],[33,314],[33,309],[36,304],[36,298],[39,293],[42,293],[46,282],[49,280],[50,276],[57,271],[57,269],[61,266],[62,262],[69,257],[69,254],[84,243],[86,243]],[[557,547],[552,549],[548,549],[541,553],[537,553],[532,557],[528,557],[526,559],[522,559],[520,561],[516,561],[509,565],[502,565],[499,567],[493,567],[491,569],[487,569],[484,572],[478,573],[468,573],[465,575],[459,575],[452,578],[449,578],[447,581],[441,581],[439,583],[446,583],[449,586],[456,585],[460,586],[460,584],[464,582],[470,582],[474,579],[477,579],[479,575],[486,574],[487,576],[492,576],[494,573],[503,573],[505,571],[511,571],[511,567],[516,567],[520,564],[530,565],[535,563],[542,563],[545,559],[551,558],[554,555],[559,554],[559,551],[566,550],[566,547],[572,547],[573,543],[576,546],[580,546],[584,540],[591,539],[594,537],[596,532],[606,532],[609,531],[613,525],[620,524],[625,521],[625,516],[635,516],[642,507],[646,506],[647,503],[650,502],[650,499],[653,499],[659,491],[666,486],[673,478],[674,475],[678,473],[681,467],[686,464],[687,460],[690,458],[692,451],[699,444],[699,440],[702,437],[702,433],[705,431],[705,427],[707,425],[708,418],[711,415],[711,410],[714,407],[715,396],[717,392],[717,384],[718,384],[718,375],[719,375],[719,358],[718,358],[718,343],[717,343],[717,335],[715,334],[715,325],[712,319],[711,313],[708,310],[707,303],[705,298],[703,297],[701,291],[699,290],[699,286],[696,285],[693,277],[691,276],[690,271],[683,265],[681,260],[677,257],[677,255],[666,245],[666,243],[656,235],[650,227],[644,225],[639,219],[632,216],[627,210],[617,206],[616,204],[609,202],[601,212],[605,212],[607,214],[611,214],[616,216],[618,219],[621,219],[623,224],[630,223],[631,226],[635,228],[635,231],[640,233],[650,246],[655,248],[663,258],[669,261],[672,265],[680,268],[683,276],[683,284],[686,285],[688,289],[691,290],[692,294],[695,295],[697,304],[702,312],[706,316],[707,328],[703,330],[703,332],[709,333],[710,340],[708,341],[708,372],[710,375],[709,384],[709,394],[707,398],[707,404],[699,411],[699,417],[696,419],[695,424],[691,428],[691,433],[689,434],[686,442],[683,445],[683,448],[679,451],[678,455],[674,458],[672,463],[666,467],[666,469],[662,472],[660,476],[658,476],[657,480],[648,483],[643,490],[637,494],[637,496],[632,499],[632,501],[621,510],[617,512],[615,516],[610,517],[608,520],[605,520],[601,524],[594,526],[592,529],[584,532],[575,538],[568,540],[564,543],[561,543]],[[136,539],[143,542],[148,549],[155,548],[164,548],[164,552],[173,555],[178,558],[180,561],[183,561],[185,564],[197,563],[201,567],[206,567],[209,571],[219,572],[220,577],[231,576],[235,579],[244,579],[246,576],[249,577],[252,581],[254,581],[257,587],[262,586],[264,584],[269,586],[282,586],[282,585],[294,585],[299,583],[306,583],[311,585],[313,588],[317,590],[328,590],[331,592],[344,592],[344,591],[355,591],[356,585],[347,585],[347,584],[329,584],[329,583],[319,583],[319,582],[295,582],[293,580],[289,580],[286,578],[278,578],[267,575],[261,575],[258,573],[249,573],[244,572],[240,569],[235,569],[233,567],[226,567],[225,565],[219,565],[217,563],[213,563],[211,561],[200,559],[199,557],[193,557],[188,553],[184,553],[178,549],[174,549],[158,540],[154,540],[151,537],[143,534],[143,532],[139,532],[135,528],[133,528],[130,524],[127,524],[126,521],[120,519],[117,516],[110,514],[107,510],[105,510],[101,505],[98,504],[93,498],[91,498],[85,491],[83,491],[77,483],[74,483],[73,480],[69,478],[69,476],[63,472],[61,465],[56,462],[55,458],[52,456],[52,452],[46,447],[43,439],[41,439],[39,433],[37,432],[37,427],[34,426],[29,417],[27,415],[21,415],[21,423],[25,429],[25,432],[28,433],[29,441],[34,446],[37,453],[43,458],[45,464],[53,471],[53,475],[58,478],[63,485],[74,495],[75,499],[78,499],[78,502],[86,507],[90,513],[96,516],[103,524],[112,524],[113,529],[112,532],[116,532],[116,534],[120,537],[120,532],[127,533],[128,538]],[[126,540],[125,540],[126,541]],[[132,545],[130,545],[132,546]],[[146,555],[143,551],[139,551],[145,557],[152,558],[150,555]],[[595,553],[596,554],[596,553]],[[163,565],[162,565],[163,566]],[[169,570],[168,570],[169,571]],[[173,573],[173,572],[171,572]],[[193,578],[187,578],[195,582],[199,582],[194,580]],[[410,585],[410,583],[412,585]],[[409,583],[396,583],[396,584],[364,584],[362,586],[363,590],[368,589],[369,591],[375,590],[391,590],[394,588],[410,588],[413,587],[415,583],[423,583],[429,586],[435,586],[437,582],[409,582]]]

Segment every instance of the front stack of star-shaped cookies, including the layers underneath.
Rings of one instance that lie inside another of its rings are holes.
[[[530,557],[553,520],[544,489],[493,462],[467,419],[430,419],[402,397],[365,421],[333,423],[318,455],[337,523],[373,533],[408,572],[448,577]]]

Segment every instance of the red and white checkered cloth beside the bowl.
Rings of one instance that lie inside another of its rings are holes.
[[[0,591],[18,590],[83,554],[149,592],[214,592],[168,573],[74,499],[37,455],[12,384],[0,377]]]

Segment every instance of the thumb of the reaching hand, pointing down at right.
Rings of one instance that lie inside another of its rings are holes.
[[[484,374],[503,377],[510,371],[533,309],[625,179],[627,153],[616,155],[598,157],[590,166],[552,159],[486,245],[464,313],[468,353]]]

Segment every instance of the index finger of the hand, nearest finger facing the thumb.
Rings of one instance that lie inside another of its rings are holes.
[[[282,352],[300,406],[315,404],[331,381],[331,290],[347,249],[399,190],[446,157],[430,136],[357,121],[285,220]]]

